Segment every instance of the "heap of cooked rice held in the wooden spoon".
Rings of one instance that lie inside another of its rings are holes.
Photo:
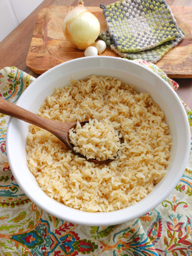
[[[74,151],[98,161],[115,159],[121,146],[118,132],[107,118],[100,122],[89,119],[83,127],[77,122],[76,128],[69,130],[69,139]]]

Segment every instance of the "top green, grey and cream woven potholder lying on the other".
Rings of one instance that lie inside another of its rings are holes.
[[[123,0],[100,8],[119,52],[140,52],[184,38],[164,0]]]

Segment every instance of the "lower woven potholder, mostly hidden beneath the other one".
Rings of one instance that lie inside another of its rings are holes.
[[[183,35],[185,35],[185,32],[179,28],[182,32]],[[103,31],[100,34],[100,39],[105,41],[105,43],[107,44],[107,46],[113,50],[114,52],[116,52],[117,54],[119,54],[119,56],[121,56],[122,58],[126,58],[129,60],[145,60],[145,61],[149,61],[152,63],[156,63],[158,60],[160,60],[166,52],[168,52],[170,49],[172,49],[174,46],[176,46],[181,40],[182,38],[179,36],[178,38],[165,42],[164,44],[161,44],[159,46],[156,46],[152,49],[149,50],[145,50],[142,52],[119,52],[116,48],[116,46],[113,44],[113,41],[110,37],[110,34],[108,32],[108,29],[106,29],[105,31]]]

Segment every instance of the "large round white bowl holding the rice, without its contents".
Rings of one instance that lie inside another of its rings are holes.
[[[49,214],[65,221],[80,225],[109,226],[124,223],[146,214],[162,203],[179,182],[187,165],[190,151],[190,129],[184,107],[173,91],[161,77],[153,71],[132,61],[107,56],[86,57],[70,60],[51,68],[39,76],[20,96],[17,105],[37,113],[54,87],[65,86],[71,76],[77,79],[88,75],[116,76],[125,83],[132,83],[137,92],[150,92],[153,100],[159,104],[169,124],[173,145],[167,174],[156,184],[154,190],[139,203],[125,209],[107,213],[89,213],[72,209],[51,199],[41,190],[35,177],[29,171],[26,161],[26,140],[29,124],[10,118],[6,148],[13,176],[23,192],[32,202]]]

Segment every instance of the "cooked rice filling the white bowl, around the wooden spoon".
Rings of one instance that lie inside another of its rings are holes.
[[[108,212],[136,204],[166,173],[171,136],[149,93],[113,77],[89,76],[55,89],[40,116],[57,122],[107,118],[122,134],[116,160],[106,165],[75,156],[50,132],[30,125],[28,167],[42,190],[69,207]]]

